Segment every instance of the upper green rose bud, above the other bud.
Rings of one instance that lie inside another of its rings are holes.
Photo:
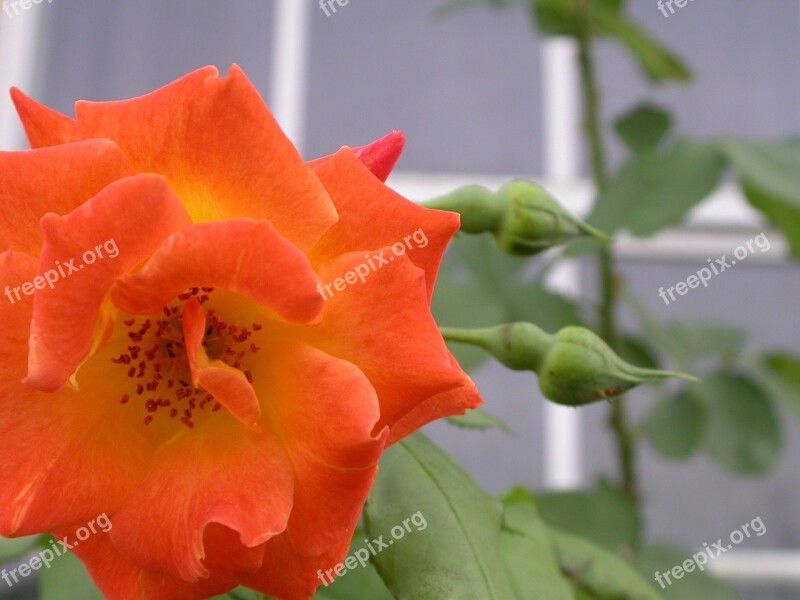
[[[610,241],[529,181],[512,181],[496,194],[470,185],[425,206],[459,213],[462,231],[489,232],[502,250],[515,256],[532,256],[582,236]]]

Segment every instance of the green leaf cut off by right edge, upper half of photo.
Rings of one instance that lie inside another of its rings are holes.
[[[800,139],[758,144],[726,140],[721,145],[750,204],[781,231],[800,257]]]

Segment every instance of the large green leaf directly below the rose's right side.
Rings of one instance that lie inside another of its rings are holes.
[[[393,540],[393,528],[421,513],[427,526]],[[422,434],[392,446],[367,501],[367,534],[394,541],[373,561],[397,598],[514,598],[500,553],[498,503]]]

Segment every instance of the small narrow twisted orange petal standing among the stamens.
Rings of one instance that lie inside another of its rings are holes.
[[[214,396],[242,423],[257,429],[258,421],[261,419],[261,407],[247,377],[239,369],[234,369],[221,360],[208,359],[203,347],[206,315],[197,299],[190,298],[186,302],[181,320],[194,385],[202,387]]]

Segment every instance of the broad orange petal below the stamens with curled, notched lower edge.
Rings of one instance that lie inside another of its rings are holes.
[[[113,515],[110,533],[141,568],[190,583],[210,574],[203,563],[208,525],[224,525],[255,548],[286,529],[294,492],[291,465],[273,433],[243,429],[225,413],[206,425],[158,448],[147,477]]]

